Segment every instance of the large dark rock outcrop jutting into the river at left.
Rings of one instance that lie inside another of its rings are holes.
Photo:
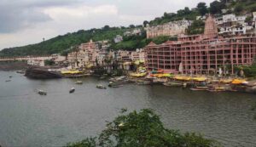
[[[33,79],[61,78],[61,74],[55,71],[48,71],[43,67],[30,67],[26,70],[25,76]]]

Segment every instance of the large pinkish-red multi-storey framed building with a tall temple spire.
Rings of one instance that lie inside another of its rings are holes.
[[[145,48],[149,71],[183,74],[209,74],[229,69],[234,73],[236,65],[251,65],[256,57],[256,37],[218,37],[215,19],[206,20],[201,35],[177,37],[160,45],[151,42]]]

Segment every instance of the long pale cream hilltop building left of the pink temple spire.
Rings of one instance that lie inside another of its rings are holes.
[[[147,38],[159,36],[177,36],[186,33],[186,29],[192,24],[190,20],[178,20],[164,25],[147,26]]]

